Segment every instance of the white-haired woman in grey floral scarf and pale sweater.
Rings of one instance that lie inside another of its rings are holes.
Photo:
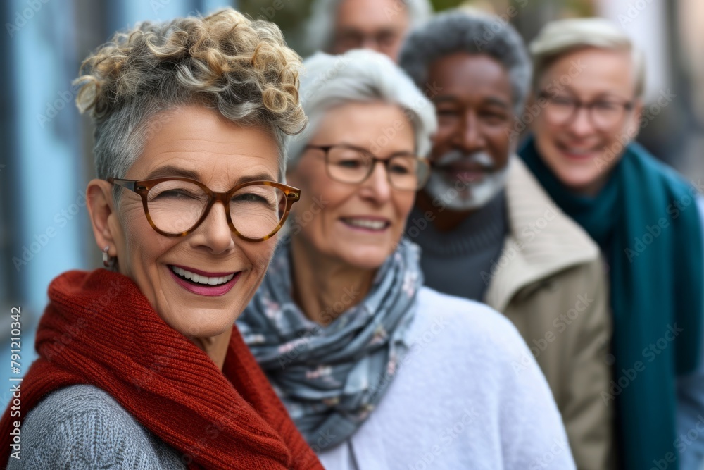
[[[238,320],[298,429],[327,469],[574,468],[513,325],[423,287],[402,238],[432,104],[372,51],[304,66],[310,125],[287,173],[301,210]]]

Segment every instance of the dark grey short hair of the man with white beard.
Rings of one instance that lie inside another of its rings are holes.
[[[486,54],[501,63],[511,82],[514,112],[520,115],[529,91],[530,58],[520,35],[498,16],[458,9],[439,13],[410,32],[398,63],[424,88],[432,63],[457,52]]]

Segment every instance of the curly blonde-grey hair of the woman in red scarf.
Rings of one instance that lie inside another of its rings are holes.
[[[270,130],[283,178],[286,135],[306,125],[298,100],[300,68],[301,58],[277,25],[231,8],[116,33],[84,61],[75,80],[76,104],[96,125],[98,178],[123,178],[151,132],[168,119],[164,111],[188,104]]]

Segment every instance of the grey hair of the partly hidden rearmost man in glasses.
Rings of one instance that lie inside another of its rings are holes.
[[[310,20],[306,23],[306,46],[311,52],[332,51],[337,9],[345,0],[313,0]],[[353,1],[353,0],[352,0]],[[406,6],[410,27],[425,23],[433,13],[428,0],[396,0]]]

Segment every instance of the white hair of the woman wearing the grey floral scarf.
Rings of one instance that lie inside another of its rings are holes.
[[[289,165],[296,165],[329,109],[359,101],[398,105],[413,124],[417,154],[430,151],[430,136],[437,128],[434,107],[390,58],[365,49],[339,56],[318,52],[303,66],[301,101],[310,123],[305,132],[289,137]]]

